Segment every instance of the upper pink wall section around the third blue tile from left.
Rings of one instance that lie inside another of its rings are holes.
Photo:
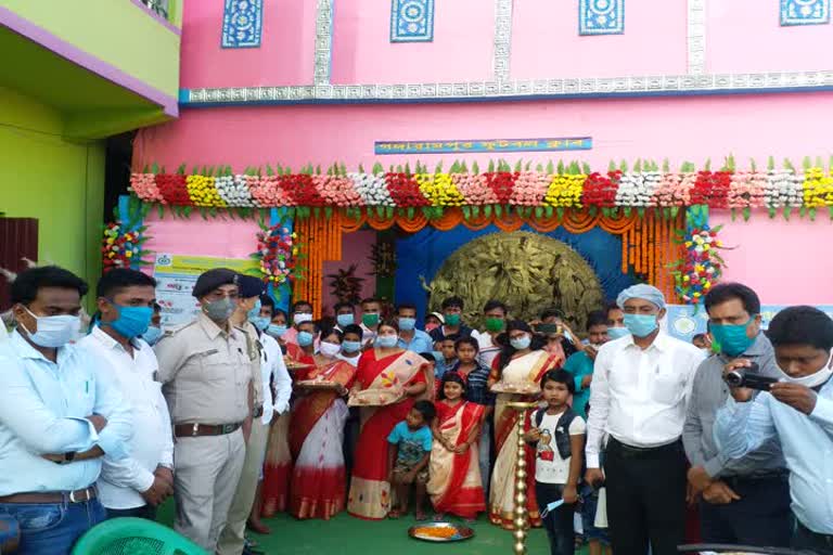
[[[628,0],[625,34],[580,36],[578,2],[514,2],[512,77],[620,77],[685,73],[684,1]]]

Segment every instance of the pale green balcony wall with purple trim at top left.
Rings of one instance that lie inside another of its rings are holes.
[[[0,5],[178,98],[180,38],[130,0],[0,0]],[[182,0],[172,8],[177,21]]]

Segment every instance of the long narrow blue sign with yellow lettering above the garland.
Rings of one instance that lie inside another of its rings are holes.
[[[467,139],[460,141],[376,141],[376,154],[449,154],[476,152],[589,151],[591,137],[553,139]]]

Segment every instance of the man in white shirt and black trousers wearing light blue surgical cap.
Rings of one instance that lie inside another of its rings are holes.
[[[685,452],[680,436],[704,353],[659,330],[665,297],[633,285],[616,302],[631,335],[599,349],[590,386],[587,475],[605,481],[614,553],[672,555],[685,532]],[[602,437],[610,434],[604,474]],[[606,480],[605,480],[606,477]]]

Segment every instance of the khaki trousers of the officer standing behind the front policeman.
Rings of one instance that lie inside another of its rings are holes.
[[[255,502],[257,482],[260,480],[260,470],[264,467],[268,438],[269,426],[264,425],[260,418],[255,418],[252,423],[252,434],[246,446],[243,474],[238,483],[238,491],[234,493],[234,501],[232,501],[231,508],[229,509],[226,527],[217,544],[217,553],[220,555],[240,555],[243,552],[246,520],[248,520],[252,505]]]

